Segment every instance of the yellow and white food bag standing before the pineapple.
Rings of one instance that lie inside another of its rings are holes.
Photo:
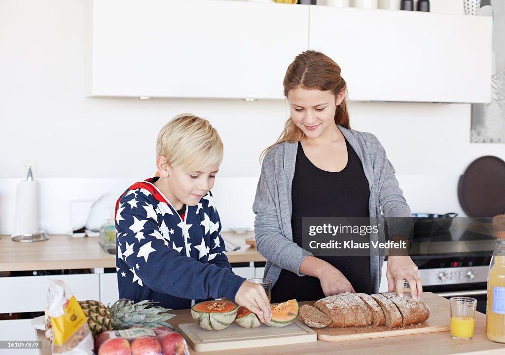
[[[81,306],[65,282],[51,282],[47,301],[53,332],[52,353],[93,355],[93,337]]]

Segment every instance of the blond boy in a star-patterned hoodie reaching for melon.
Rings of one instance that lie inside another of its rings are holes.
[[[210,190],[223,143],[209,121],[182,114],[160,131],[158,174],[116,204],[119,297],[181,309],[226,297],[269,317],[265,292],[231,271]]]

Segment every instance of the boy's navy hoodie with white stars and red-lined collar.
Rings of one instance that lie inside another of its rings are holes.
[[[153,184],[136,183],[116,203],[119,298],[183,309],[193,300],[235,294],[245,280],[231,272],[212,194],[179,215]]]

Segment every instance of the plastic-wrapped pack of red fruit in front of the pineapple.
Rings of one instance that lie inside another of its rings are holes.
[[[109,330],[95,339],[98,355],[189,355],[186,340],[167,327]]]

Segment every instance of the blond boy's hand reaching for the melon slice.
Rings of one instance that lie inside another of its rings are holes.
[[[261,323],[269,322],[272,317],[270,302],[260,285],[244,281],[235,295],[235,303],[255,313]]]

